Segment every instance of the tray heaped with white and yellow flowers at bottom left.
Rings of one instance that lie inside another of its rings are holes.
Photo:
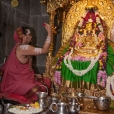
[[[37,102],[31,104],[12,105],[8,108],[10,114],[39,114],[43,108]]]

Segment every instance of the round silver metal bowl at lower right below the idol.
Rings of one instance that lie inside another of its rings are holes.
[[[108,110],[110,108],[111,98],[107,96],[93,99],[93,102],[98,110]]]

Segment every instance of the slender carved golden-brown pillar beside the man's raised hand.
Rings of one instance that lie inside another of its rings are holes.
[[[72,2],[73,1],[74,0],[72,0]],[[54,78],[54,71],[53,71],[54,68],[52,66],[52,61],[53,61],[54,57],[52,56],[52,54],[53,54],[52,52],[54,49],[54,47],[53,47],[54,36],[55,36],[55,34],[57,34],[56,27],[54,26],[54,24],[55,24],[54,19],[55,19],[55,15],[57,13],[60,13],[58,10],[60,10],[62,8],[64,9],[65,5],[67,5],[68,2],[69,2],[69,0],[40,0],[41,4],[47,6],[47,12],[49,13],[49,17],[50,17],[49,24],[52,26],[52,42],[51,42],[51,45],[49,48],[49,53],[48,53],[47,60],[46,60],[46,70],[45,70],[45,73],[43,74],[45,77],[49,77],[52,80],[52,82],[53,82],[53,78]],[[66,13],[64,12],[63,19],[65,18],[65,15],[66,15]],[[53,92],[54,92],[54,83],[52,83],[52,87],[51,87],[51,93],[53,93]]]

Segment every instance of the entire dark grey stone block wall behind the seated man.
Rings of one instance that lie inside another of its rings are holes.
[[[11,0],[1,0],[1,33],[0,37],[0,66],[3,59],[8,56],[15,42],[13,33],[17,27],[30,26],[34,28],[35,34],[33,42],[35,46],[42,47],[47,33],[42,24],[49,22],[49,16],[46,7],[40,4],[40,0],[18,0],[19,5],[14,8],[11,6]],[[33,66],[37,72],[45,71],[46,55],[33,57]]]

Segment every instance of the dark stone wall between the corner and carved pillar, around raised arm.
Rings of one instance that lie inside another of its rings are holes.
[[[32,0],[30,3],[30,26],[35,29],[36,37],[34,37],[34,44],[38,47],[42,47],[47,32],[44,28],[43,23],[49,23],[49,16],[46,12],[46,6],[40,4],[40,0]],[[41,55],[34,57],[33,59],[33,67],[36,72],[42,74],[45,72],[45,63],[46,63],[46,55]]]

